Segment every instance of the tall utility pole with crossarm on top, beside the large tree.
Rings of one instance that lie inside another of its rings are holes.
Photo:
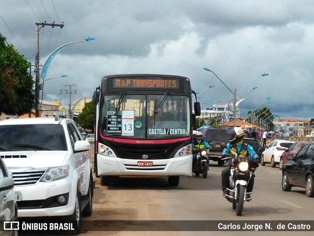
[[[35,116],[36,117],[39,117],[39,111],[40,111],[40,107],[39,107],[39,30],[42,28],[42,27],[45,27],[45,26],[52,26],[52,28],[54,26],[57,26],[57,27],[61,27],[63,28],[63,23],[62,24],[54,24],[54,22],[52,24],[48,24],[45,22],[42,22],[42,23],[35,23],[36,24],[36,57],[35,57],[35,73],[36,73],[36,80],[35,80]]]

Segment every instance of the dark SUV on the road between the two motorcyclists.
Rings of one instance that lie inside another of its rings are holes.
[[[217,161],[218,165],[223,165],[224,160],[221,160],[223,147],[220,146],[220,143],[228,143],[230,135],[227,133],[227,129],[216,129],[209,128],[206,129],[203,138],[209,144],[209,159]]]

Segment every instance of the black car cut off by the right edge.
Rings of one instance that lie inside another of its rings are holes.
[[[314,197],[314,142],[303,146],[295,157],[289,160],[282,170],[282,189],[290,191],[291,187],[303,187],[308,197]]]

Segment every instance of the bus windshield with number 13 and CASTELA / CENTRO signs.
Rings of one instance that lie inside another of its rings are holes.
[[[100,111],[100,131],[108,137],[165,139],[190,135],[188,96],[105,95]]]

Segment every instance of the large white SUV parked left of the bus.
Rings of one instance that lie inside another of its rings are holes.
[[[0,157],[13,174],[19,217],[62,216],[75,221],[92,214],[90,144],[71,119],[0,121]]]

